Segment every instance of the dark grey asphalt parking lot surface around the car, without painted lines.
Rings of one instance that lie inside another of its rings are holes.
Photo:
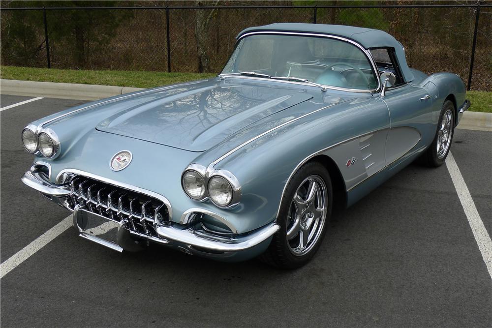
[[[32,97],[1,95],[1,107]],[[22,184],[22,128],[83,103],[1,111],[3,263],[70,213]],[[457,129],[451,151],[489,235],[492,133]],[[74,229],[1,278],[2,327],[491,327],[492,280],[443,165],[412,164],[337,210],[314,259],[293,270],[226,264],[153,245],[119,254]]]

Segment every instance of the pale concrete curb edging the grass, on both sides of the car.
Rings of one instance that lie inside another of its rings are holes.
[[[1,94],[32,97],[97,100],[138,90],[143,89],[90,84],[0,80]],[[464,112],[458,128],[492,131],[492,113]]]

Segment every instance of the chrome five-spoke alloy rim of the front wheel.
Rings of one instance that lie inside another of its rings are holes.
[[[309,176],[299,185],[287,217],[287,243],[301,256],[309,252],[321,236],[328,209],[326,184],[319,176]]]

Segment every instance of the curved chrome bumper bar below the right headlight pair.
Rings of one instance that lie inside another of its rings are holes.
[[[236,238],[215,237],[215,239],[203,237],[193,230],[181,230],[170,225],[159,226],[155,231],[164,239],[174,240],[186,245],[219,252],[239,252],[269,239],[279,229],[280,226],[274,221],[246,236],[238,236]]]

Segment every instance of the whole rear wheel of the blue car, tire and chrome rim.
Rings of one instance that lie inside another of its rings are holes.
[[[455,106],[450,100],[442,105],[437,131],[431,146],[423,154],[425,164],[438,167],[444,163],[451,149],[455,123]]]

